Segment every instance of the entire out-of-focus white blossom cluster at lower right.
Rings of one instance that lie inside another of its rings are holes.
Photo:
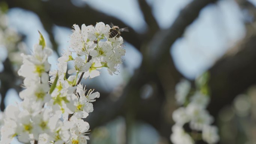
[[[199,137],[208,144],[217,143],[218,129],[211,125],[214,118],[206,110],[210,97],[199,90],[189,94],[190,90],[191,84],[188,80],[182,80],[176,85],[176,99],[183,106],[173,112],[175,125],[172,128],[171,141],[174,144],[194,144]],[[183,128],[186,124],[192,133]]]

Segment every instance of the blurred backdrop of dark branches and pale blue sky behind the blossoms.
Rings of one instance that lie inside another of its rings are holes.
[[[103,69],[82,81],[101,94],[86,118],[90,144],[170,144],[175,85],[205,71],[219,143],[256,144],[256,0],[0,0],[0,7],[2,111],[21,101],[19,54],[31,53],[38,30],[56,69],[73,24],[112,22],[129,27],[127,53],[118,75]]]

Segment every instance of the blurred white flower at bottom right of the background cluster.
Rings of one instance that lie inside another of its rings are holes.
[[[202,139],[208,144],[215,144],[219,141],[218,128],[216,126],[205,125],[202,129]]]

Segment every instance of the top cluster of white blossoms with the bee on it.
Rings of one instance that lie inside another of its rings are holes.
[[[115,74],[118,71],[118,64],[122,63],[121,56],[124,56],[125,49],[123,49],[123,38],[113,37],[109,38],[110,26],[99,22],[93,27],[92,25],[82,25],[81,29],[78,25],[73,25],[74,31],[71,35],[70,48],[79,56],[73,59],[71,52],[64,53],[60,62],[74,60],[75,69],[68,71],[68,73],[85,72],[84,77],[95,77],[100,75],[99,71],[102,67],[107,67],[109,73]],[[82,61],[80,56],[91,60],[87,63]],[[85,65],[85,67],[81,67]],[[89,71],[87,70],[89,68]]]

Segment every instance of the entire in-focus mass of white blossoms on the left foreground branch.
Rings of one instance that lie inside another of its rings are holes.
[[[125,54],[122,37],[109,39],[109,30],[103,22],[95,27],[83,24],[82,30],[74,25],[70,45],[73,50],[64,52],[58,58],[58,69],[50,72],[48,57],[52,50],[40,34],[33,55],[22,54],[23,65],[18,74],[25,77],[25,89],[19,93],[23,101],[6,108],[1,144],[9,144],[16,136],[23,143],[87,143],[89,124],[84,119],[93,111],[92,102],[100,93],[86,90],[80,81],[82,77],[98,76],[102,67],[115,74]],[[70,70],[68,62],[74,64]],[[67,71],[75,75],[66,78]]]

